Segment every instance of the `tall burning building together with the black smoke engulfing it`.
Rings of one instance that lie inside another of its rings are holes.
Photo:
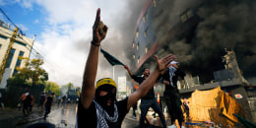
[[[200,83],[214,80],[224,69],[222,56],[236,53],[243,77],[255,85],[256,2],[149,0],[140,14],[131,44],[132,66],[140,71],[154,62],[152,55],[172,53],[176,61]]]

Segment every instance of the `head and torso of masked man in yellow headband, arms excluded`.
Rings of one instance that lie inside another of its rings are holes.
[[[91,106],[85,109],[80,99],[78,111],[76,127],[119,127],[128,112],[127,98],[117,101],[115,82],[103,78],[96,82],[96,95]],[[90,123],[83,123],[85,120]]]

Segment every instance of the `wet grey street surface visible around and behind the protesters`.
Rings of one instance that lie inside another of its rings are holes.
[[[34,107],[32,114],[29,117],[24,117],[22,110],[17,109],[0,109],[0,126],[1,128],[74,128],[76,123],[77,104],[68,103],[65,106],[52,106],[51,112],[46,118],[43,119],[44,110]],[[148,128],[160,128],[160,118],[152,116],[154,112],[149,111],[147,118],[152,125]],[[123,120],[122,128],[139,128],[140,116],[137,113],[137,119],[132,118],[132,108],[127,113]],[[169,118],[166,118],[167,126],[170,125]],[[202,128],[211,126],[204,122],[186,122],[186,127]],[[218,127],[218,126],[217,126]],[[243,127],[243,126],[238,126]]]

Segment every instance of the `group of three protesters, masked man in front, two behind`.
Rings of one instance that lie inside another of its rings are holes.
[[[150,69],[143,70],[143,76],[135,76],[127,65],[124,68],[131,78],[139,83],[139,88],[122,100],[116,100],[116,84],[110,78],[102,78],[96,82],[96,72],[98,64],[98,52],[101,41],[107,33],[107,26],[100,21],[100,9],[96,12],[96,21],[93,27],[93,40],[86,62],[82,93],[78,103],[76,128],[120,128],[125,115],[130,107],[133,107],[133,117],[136,118],[136,103],[141,99],[140,127],[148,127],[146,114],[152,107],[159,115],[163,127],[176,127],[174,121],[177,119],[179,126],[184,127],[184,117],[181,107],[189,111],[188,102],[182,103],[177,90],[177,80],[183,78],[185,73],[179,68],[172,54],[165,57],[156,58],[156,67],[150,73]],[[160,81],[165,85],[164,100],[171,118],[171,126],[166,126],[165,118],[160,109],[160,105],[155,98],[154,85]],[[96,82],[96,85],[95,85]]]

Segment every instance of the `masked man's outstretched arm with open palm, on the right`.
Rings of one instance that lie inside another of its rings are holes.
[[[155,85],[160,72],[164,72],[166,68],[170,65],[170,62],[175,58],[174,55],[169,54],[161,59],[157,55],[155,55],[155,58],[157,60],[157,66],[154,69],[154,71],[151,73],[149,78],[147,78],[139,87],[139,89],[131,94],[128,97],[128,102],[127,102],[127,109],[129,109],[135,102],[137,102],[141,97],[146,96],[149,91],[153,88]]]

